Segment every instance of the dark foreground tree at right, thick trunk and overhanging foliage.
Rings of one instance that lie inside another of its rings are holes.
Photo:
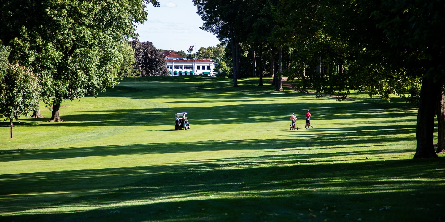
[[[435,30],[444,28],[444,5],[435,0],[282,3],[275,12],[285,25],[275,36],[299,52],[294,74],[288,74],[303,80],[296,85],[300,91],[312,87],[342,100],[355,89],[389,101],[390,95],[421,81],[414,158],[437,157],[433,127],[444,79],[445,41]]]

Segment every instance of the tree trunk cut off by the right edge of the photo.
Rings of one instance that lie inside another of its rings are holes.
[[[439,95],[437,95],[436,115],[437,115],[437,151],[436,151],[436,153],[445,153],[445,98],[444,98],[443,84],[441,86]]]

